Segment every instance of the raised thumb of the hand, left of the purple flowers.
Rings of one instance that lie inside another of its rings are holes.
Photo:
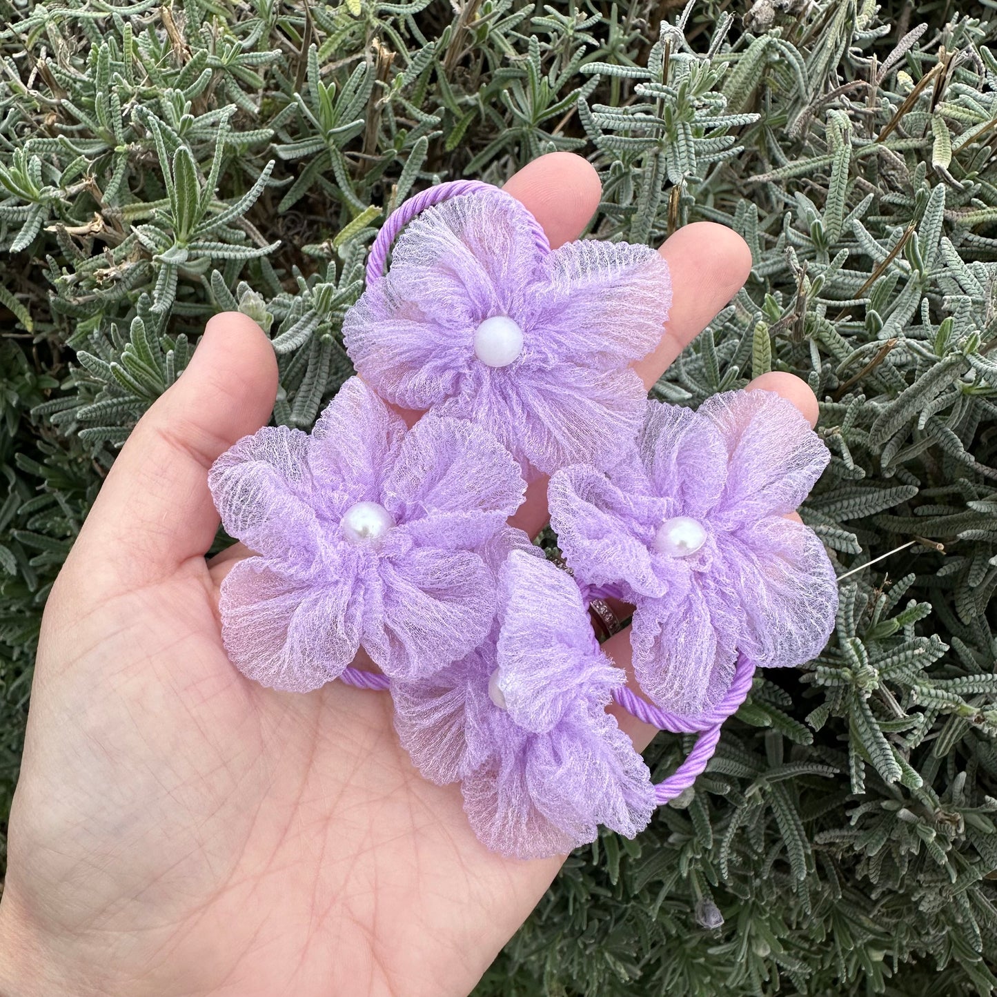
[[[218,528],[208,469],[266,423],[276,392],[277,362],[262,329],[238,312],[211,318],[187,368],[129,437],[87,517],[70,562],[86,565],[89,583],[119,591],[147,585],[203,556]]]

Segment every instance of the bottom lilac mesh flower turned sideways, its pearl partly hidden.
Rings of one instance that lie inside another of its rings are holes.
[[[498,626],[468,657],[391,686],[402,744],[422,774],[460,780],[479,838],[519,858],[563,854],[598,825],[633,837],[655,808],[643,759],[605,712],[626,681],[601,652],[577,586],[513,551]]]

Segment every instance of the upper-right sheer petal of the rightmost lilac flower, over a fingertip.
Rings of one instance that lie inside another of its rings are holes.
[[[717,427],[730,455],[713,510],[720,525],[795,511],[831,460],[800,410],[775,392],[725,392],[698,414]]]

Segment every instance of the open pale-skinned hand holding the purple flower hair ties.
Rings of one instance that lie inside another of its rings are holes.
[[[552,154],[507,183],[552,245],[599,199]],[[747,279],[743,240],[700,222],[661,248],[674,303],[637,370],[650,386]],[[810,389],[777,391],[814,422]],[[122,450],[52,591],[0,902],[0,994],[463,997],[560,858],[505,859],[457,787],[425,782],[385,694],[245,680],[221,646],[207,469],[269,418],[273,351],[237,314]],[[542,488],[515,517],[535,532]],[[606,649],[629,663],[624,631]],[[653,729],[621,722],[638,748]]]

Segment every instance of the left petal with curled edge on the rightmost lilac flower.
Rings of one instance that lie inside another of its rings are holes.
[[[661,596],[649,544],[668,513],[660,500],[627,495],[587,465],[565,468],[547,487],[550,524],[577,578],[599,586],[622,582],[628,597]]]

